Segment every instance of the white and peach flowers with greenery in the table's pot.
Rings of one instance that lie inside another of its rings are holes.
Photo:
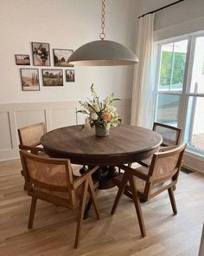
[[[118,101],[119,99],[112,93],[100,102],[93,84],[91,86],[91,92],[92,100],[88,99],[86,102],[80,102],[80,106],[84,109],[77,111],[87,115],[85,124],[80,129],[92,128],[93,126],[106,129],[117,127],[120,124],[120,120],[118,119],[117,109],[112,106],[112,102]]]

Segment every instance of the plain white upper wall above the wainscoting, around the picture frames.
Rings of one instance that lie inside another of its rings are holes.
[[[78,101],[89,95],[92,82],[102,97],[115,91],[120,98],[131,98],[133,67],[76,67],[74,83],[22,91],[15,54],[31,57],[31,42],[50,43],[54,68],[52,49],[77,49],[99,39],[100,5],[98,0],[0,1],[0,103]],[[105,2],[106,39],[135,48],[136,5],[135,0]]]

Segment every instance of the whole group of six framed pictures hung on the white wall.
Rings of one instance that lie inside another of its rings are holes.
[[[31,43],[31,58],[28,54],[16,54],[16,65],[27,66],[20,68],[23,91],[37,91],[42,86],[63,86],[65,75],[66,82],[75,82],[73,65],[68,63],[68,58],[73,54],[73,49],[53,49],[51,56],[49,43]],[[54,68],[51,67],[50,58],[53,57]],[[43,68],[28,68],[31,65]],[[60,69],[61,68],[61,69]],[[39,78],[41,72],[41,81]]]

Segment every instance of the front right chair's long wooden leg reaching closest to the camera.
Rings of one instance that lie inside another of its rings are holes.
[[[139,222],[140,231],[141,231],[142,236],[144,237],[144,236],[146,236],[146,231],[145,231],[145,227],[144,227],[144,223],[143,223],[143,213],[142,213],[140,201],[139,201],[139,198],[137,195],[137,188],[136,188],[135,180],[132,175],[130,175],[129,182],[130,182],[130,187],[131,187],[132,198],[133,198],[136,212],[137,212],[137,219]]]

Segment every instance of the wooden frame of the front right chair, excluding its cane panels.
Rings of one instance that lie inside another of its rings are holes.
[[[118,201],[120,200],[122,194],[125,194],[125,191],[126,193],[131,194],[131,197],[134,200],[134,204],[136,207],[137,219],[139,222],[141,234],[144,237],[146,235],[146,232],[143,224],[143,214],[141,211],[140,201],[138,198],[144,201],[147,201],[155,197],[157,194],[161,194],[165,190],[168,190],[171,207],[172,207],[173,213],[176,214],[177,208],[175,205],[174,187],[178,180],[180,167],[182,165],[182,156],[185,148],[186,148],[186,144],[183,143],[181,146],[177,146],[177,147],[175,146],[170,150],[168,150],[168,148],[165,148],[163,149],[163,152],[157,152],[153,154],[153,158],[150,164],[150,169],[148,174],[144,174],[140,170],[132,169],[131,167],[126,167],[124,165],[119,166],[121,169],[124,170],[124,175],[123,175],[122,181],[118,182],[118,194],[116,196],[116,199],[112,207],[112,214],[116,212],[116,209],[118,207]],[[178,154],[178,159],[177,159],[175,168],[171,170],[169,174],[163,175],[156,179],[156,177],[154,177],[154,173],[156,171],[156,162],[161,158],[169,157],[175,154]],[[145,184],[143,193],[137,191],[135,177],[145,181],[146,184]],[[155,183],[163,184],[165,181],[169,181],[168,185],[164,184],[163,187],[161,188],[158,187],[158,189],[154,193],[151,193],[151,190],[154,187]],[[129,185],[128,185],[128,182],[129,182]]]

